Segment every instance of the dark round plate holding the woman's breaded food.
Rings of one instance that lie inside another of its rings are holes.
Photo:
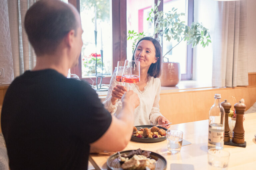
[[[151,128],[153,127],[153,125],[140,125],[140,126],[135,126],[138,130],[141,129],[141,128]],[[165,131],[168,130],[167,128],[163,128],[163,127],[158,127],[158,128],[161,128],[161,129],[164,129]],[[131,140],[132,141],[136,141],[136,142],[144,142],[144,143],[155,143],[155,142],[161,142],[163,140],[166,139],[166,136],[163,136],[163,137],[158,137],[158,138],[143,138],[143,137],[135,137],[135,136],[132,136],[131,137]]]

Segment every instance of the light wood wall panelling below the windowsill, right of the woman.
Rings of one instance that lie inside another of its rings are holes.
[[[236,103],[245,100],[246,110],[256,102],[256,86],[235,88],[213,88],[207,90],[183,91],[160,94],[160,112],[173,124],[200,121],[208,119],[211,106],[214,104],[214,94],[221,94],[233,106],[233,97]]]

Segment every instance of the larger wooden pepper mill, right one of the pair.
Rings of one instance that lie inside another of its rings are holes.
[[[236,113],[236,124],[233,129],[232,142],[237,144],[243,144],[244,143],[243,119],[244,119],[244,111],[246,106],[241,101],[239,101],[239,103],[235,104],[234,108]]]

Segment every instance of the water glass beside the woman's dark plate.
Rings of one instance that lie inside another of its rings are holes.
[[[181,130],[167,130],[166,140],[168,151],[172,154],[179,153],[181,150],[183,131]]]

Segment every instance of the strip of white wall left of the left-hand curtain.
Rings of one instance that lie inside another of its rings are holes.
[[[0,69],[4,69],[1,85],[11,83],[14,78],[7,0],[0,0],[0,33]]]

